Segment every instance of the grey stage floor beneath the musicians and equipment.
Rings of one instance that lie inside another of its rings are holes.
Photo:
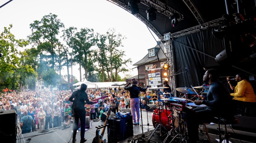
[[[153,123],[152,123],[152,116],[153,116],[153,112],[142,111],[143,133],[145,134],[145,136],[149,135],[155,129],[153,127]],[[147,126],[147,123],[149,123],[150,126]],[[91,143],[93,141],[93,138],[95,137],[95,132],[96,132],[95,127],[103,125],[103,124],[104,124],[104,122],[101,120],[98,122],[92,123],[93,128],[90,128],[85,132],[85,138],[87,138],[86,143]],[[210,135],[211,142],[217,143],[217,141],[215,140],[215,139],[218,139],[218,136],[216,135],[217,134],[217,132],[216,132],[217,125],[207,125],[207,128],[210,132],[209,135]],[[228,127],[228,128],[230,131],[231,128],[230,127]],[[232,136],[231,137],[234,140],[234,142],[236,142],[236,143],[241,143],[240,140],[242,140],[242,142],[255,142],[255,140],[256,140],[256,133],[238,131],[238,130],[234,130],[234,131],[240,135],[240,136],[234,136],[234,137]],[[100,131],[100,133],[101,133],[101,131]],[[140,137],[139,134],[141,134],[141,133],[142,133],[142,126],[141,126],[141,121],[140,121],[140,125],[133,125],[133,135],[134,136],[138,135],[138,137]],[[27,141],[27,139],[32,137],[30,140],[30,143],[48,143],[48,142],[68,143],[69,141],[72,142],[71,136],[72,136],[72,125],[70,126],[70,128],[66,128],[66,129],[51,129],[49,132],[46,132],[46,133],[39,133],[38,131],[36,131],[36,132],[22,134],[16,142],[17,143],[28,143],[29,141]],[[107,130],[105,130],[103,138],[106,138],[106,140],[108,142]],[[132,137],[129,137],[129,138],[132,138]],[[161,142],[165,138],[166,138],[165,136],[160,137],[157,134],[154,134],[154,136],[151,139],[155,142]],[[237,138],[239,138],[240,140]],[[206,137],[204,135],[202,135],[200,137],[200,139],[206,139]],[[120,143],[127,143],[127,140],[128,139],[120,141]],[[168,138],[168,141],[170,142],[171,139]],[[80,131],[78,131],[76,134],[76,143],[79,143],[79,142],[80,142]]]

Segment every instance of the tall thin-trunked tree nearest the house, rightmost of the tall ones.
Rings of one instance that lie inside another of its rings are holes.
[[[108,49],[108,52],[109,52],[109,62],[110,62],[110,81],[112,82],[113,78],[112,78],[112,75],[113,75],[113,56],[115,55],[115,53],[118,53],[120,52],[117,48],[118,47],[122,47],[122,41],[123,39],[125,39],[126,37],[122,36],[122,34],[118,33],[116,34],[115,33],[115,29],[109,29],[107,32],[106,32],[106,37],[108,39],[108,45],[107,45],[107,49]]]

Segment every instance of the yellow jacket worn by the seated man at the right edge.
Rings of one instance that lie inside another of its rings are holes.
[[[231,93],[230,95],[234,96],[233,100],[256,102],[256,95],[253,91],[253,87],[251,83],[245,79],[237,83],[234,93]]]

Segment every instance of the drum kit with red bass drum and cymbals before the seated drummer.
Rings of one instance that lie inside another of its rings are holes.
[[[183,98],[183,97],[169,97],[170,93],[162,93],[160,89],[164,89],[166,87],[154,87],[148,89],[157,89],[158,95],[158,107],[155,109],[152,122],[155,127],[154,131],[151,133],[148,141],[151,139],[153,134],[156,131],[159,131],[159,136],[167,137],[163,143],[165,143],[171,137],[171,142],[187,142],[187,133],[186,133],[186,122],[184,122],[185,116],[182,111],[182,106],[186,107],[193,111],[192,109],[203,107],[206,105],[195,105],[193,100]],[[209,88],[208,86],[196,86],[194,88]],[[176,88],[177,91],[185,94],[198,94],[199,91],[193,88]],[[160,98],[163,95],[165,98]],[[165,133],[165,134],[162,134]],[[179,141],[178,141],[179,140]]]

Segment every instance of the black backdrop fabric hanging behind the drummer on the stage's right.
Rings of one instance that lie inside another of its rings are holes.
[[[219,65],[215,57],[225,49],[223,39],[215,38],[212,34],[213,29],[199,31],[190,35],[177,37],[172,40],[173,62],[175,74],[185,72],[188,68],[190,74],[182,73],[175,75],[176,88],[201,86],[203,84],[203,67],[210,69],[216,68],[221,76],[236,76],[238,73],[252,75],[256,73],[255,59],[245,60],[237,64]],[[238,68],[237,68],[238,67]],[[181,69],[181,70],[180,70]],[[180,71],[179,71],[180,70]],[[177,72],[177,73],[176,73]],[[220,78],[219,80],[225,80]],[[178,93],[176,93],[177,95]]]

